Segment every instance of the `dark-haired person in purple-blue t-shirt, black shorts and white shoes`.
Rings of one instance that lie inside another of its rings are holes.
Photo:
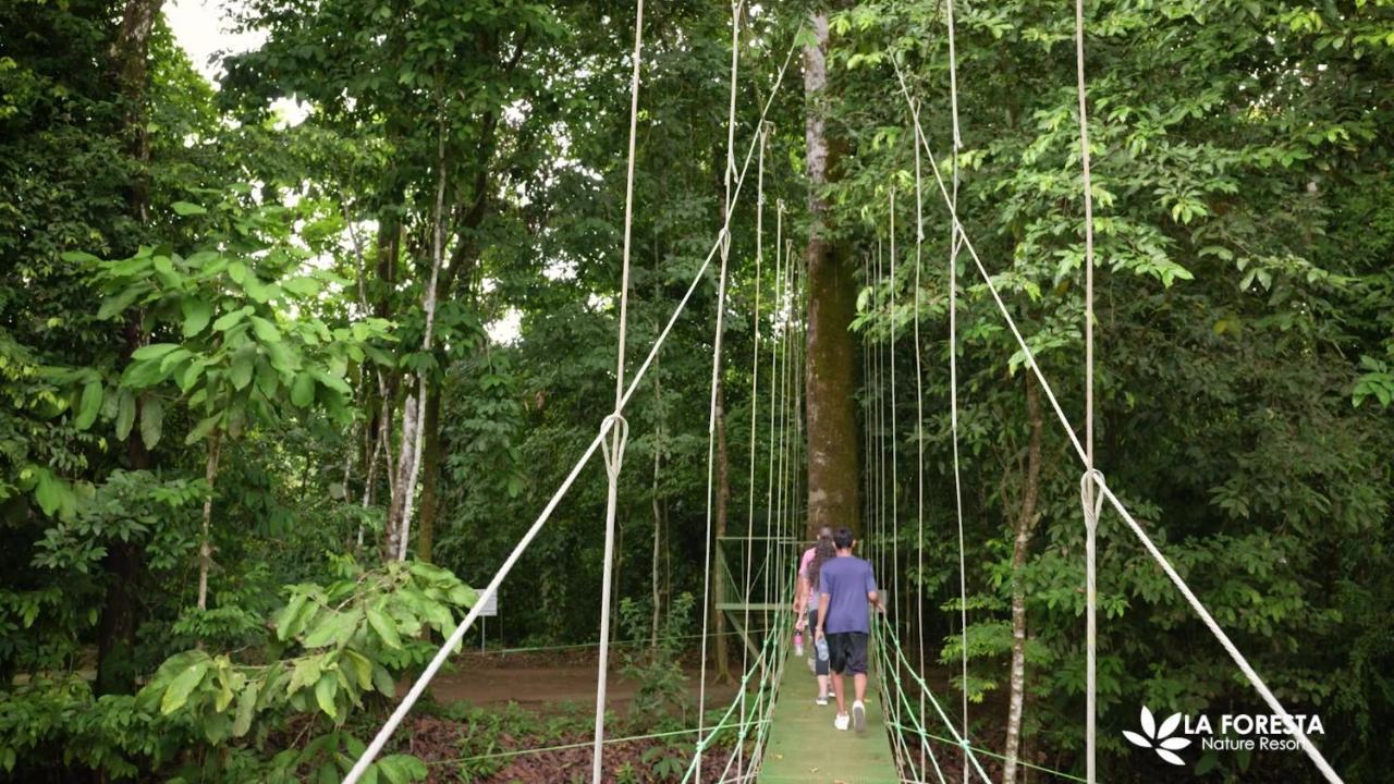
[[[885,612],[875,590],[871,564],[852,554],[856,540],[849,529],[832,532],[838,557],[822,565],[818,579],[818,629],[814,639],[828,640],[828,663],[832,668],[832,692],[838,698],[838,717],[832,725],[846,730],[853,724],[857,732],[867,728],[867,638],[871,621],[867,604]],[[842,675],[852,672],[856,699],[848,717],[846,692]]]

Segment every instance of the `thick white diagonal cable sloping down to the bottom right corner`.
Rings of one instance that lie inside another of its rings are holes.
[[[899,64],[895,63],[895,59],[891,59],[891,63],[892,66],[895,66],[895,73],[901,82],[901,92],[905,95],[906,103],[909,106],[913,106],[913,99],[910,96],[907,85],[905,84],[905,77],[901,73]],[[1011,312],[1006,310],[1006,304],[1002,301],[1001,293],[993,283],[993,276],[988,275],[987,266],[983,264],[983,259],[979,257],[977,250],[973,247],[973,241],[967,237],[967,233],[963,230],[963,225],[959,222],[958,212],[953,209],[953,205],[949,199],[948,188],[944,184],[944,176],[941,174],[937,159],[934,158],[934,151],[930,149],[923,131],[919,133],[919,137],[921,144],[924,145],[924,153],[930,162],[930,169],[934,173],[935,181],[938,183],[940,194],[944,197],[944,204],[949,209],[949,218],[952,219],[953,226],[963,241],[963,247],[967,248],[969,255],[973,258],[973,262],[977,266],[979,275],[983,278],[983,282],[987,286],[988,293],[993,296],[993,301],[997,303],[998,312],[1002,314],[1002,319],[1006,322],[1006,326],[1011,329],[1012,336],[1016,339],[1016,345],[1022,349],[1022,353],[1026,357],[1026,365],[1036,375],[1036,379],[1040,382],[1041,389],[1046,392],[1046,398],[1050,400],[1050,405],[1055,412],[1057,420],[1059,420],[1066,438],[1075,448],[1075,455],[1079,458],[1080,465],[1087,466],[1089,465],[1087,453],[1083,445],[1080,444],[1079,437],[1075,434],[1075,428],[1071,425],[1069,417],[1065,416],[1064,409],[1061,409],[1059,400],[1055,399],[1055,393],[1050,386],[1050,381],[1046,378],[1046,374],[1041,371],[1040,365],[1036,361],[1036,354],[1032,352],[1030,346],[1027,346],[1026,339],[1022,338],[1022,332],[1016,326],[1016,321],[1012,319]],[[1093,476],[1096,477],[1096,480],[1101,477],[1098,472],[1086,476]],[[1230,638],[1224,633],[1224,631],[1214,621],[1210,612],[1206,611],[1204,605],[1200,604],[1200,600],[1196,598],[1196,596],[1186,586],[1185,580],[1181,579],[1181,575],[1178,575],[1175,569],[1172,569],[1171,564],[1165,559],[1165,557],[1163,557],[1161,551],[1157,548],[1156,544],[1153,544],[1151,538],[1142,529],[1142,526],[1138,525],[1136,520],[1133,520],[1131,513],[1128,513],[1122,502],[1112,494],[1108,485],[1103,484],[1101,481],[1096,481],[1096,484],[1098,485],[1098,490],[1110,499],[1112,506],[1119,512],[1119,515],[1122,515],[1124,520],[1128,522],[1128,526],[1142,541],[1143,547],[1147,548],[1147,552],[1151,554],[1153,559],[1156,559],[1157,564],[1163,568],[1163,571],[1167,572],[1167,576],[1171,578],[1172,583],[1177,585],[1177,587],[1182,591],[1182,594],[1196,610],[1196,612],[1200,614],[1202,619],[1206,622],[1206,626],[1216,636],[1216,639],[1220,640],[1220,644],[1225,649],[1225,651],[1235,661],[1235,664],[1239,665],[1239,670],[1249,679],[1249,684],[1255,688],[1255,691],[1257,691],[1259,695],[1263,696],[1264,702],[1269,703],[1269,707],[1271,707],[1276,714],[1288,716],[1288,711],[1282,707],[1282,704],[1277,700],[1277,698],[1273,696],[1273,692],[1269,691],[1269,686],[1263,682],[1259,674],[1249,665],[1243,654],[1239,653],[1239,649],[1236,649],[1234,643],[1230,642]],[[1335,774],[1330,763],[1327,763],[1326,757],[1322,756],[1322,752],[1316,748],[1316,745],[1312,744],[1310,738],[1308,738],[1306,734],[1301,731],[1301,728],[1298,728],[1295,724],[1289,724],[1288,731],[1294,737],[1294,739],[1298,741],[1298,744],[1302,746],[1302,751],[1306,752],[1308,757],[1317,767],[1317,770],[1322,771],[1322,774],[1327,778],[1327,781],[1333,783],[1341,781],[1340,776]]]

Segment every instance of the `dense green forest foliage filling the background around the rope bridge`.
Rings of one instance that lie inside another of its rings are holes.
[[[729,8],[650,6],[631,367],[711,250],[728,162]],[[769,480],[749,455],[771,446],[750,428],[768,399],[750,389],[751,368],[769,384],[754,333],[775,333],[772,259],[797,262],[810,232],[797,52],[772,86],[813,6],[760,4],[739,42],[737,166],[761,130],[768,142],[758,272],[754,174],[732,220],[732,532]],[[896,77],[1078,424],[1073,20],[1062,4],[955,3],[955,151],[945,4],[829,6],[838,155],[822,195],[829,234],[866,259],[863,526],[881,551],[895,537],[882,583],[927,608],[924,628],[898,618],[902,638],[938,651],[931,684],[969,689],[987,746],[1008,724],[1013,601],[1025,610],[1020,755],[1078,771],[1079,467],[1052,412],[1033,414],[1040,391],[966,250],[948,345],[949,223],[926,160],[916,248]],[[139,11],[146,38],[130,32]],[[0,4],[0,776],[337,780],[612,406],[633,10],[251,0],[219,24],[265,39],[222,60],[216,84],[159,11]],[[1101,0],[1087,29],[1098,465],[1278,696],[1323,716],[1317,741],[1347,780],[1377,781],[1394,727],[1394,4]],[[643,684],[636,727],[677,730],[697,707],[673,640],[701,617],[715,301],[710,271],[626,412],[616,626],[654,639],[623,657]],[[949,675],[965,653],[951,350],[967,684]],[[923,538],[877,527],[892,497],[916,519],[916,352]],[[894,391],[875,357],[895,363]],[[892,451],[894,494],[875,470]],[[602,476],[598,460],[581,474],[526,579],[505,583],[500,644],[595,639]],[[1100,537],[1101,774],[1144,781],[1156,771],[1119,732],[1140,704],[1262,706],[1131,532],[1105,515]],[[923,572],[905,555],[917,548]],[[516,724],[442,710],[468,728],[461,756]],[[669,751],[645,760],[659,778]],[[1196,764],[1216,781],[1309,776],[1296,753]],[[375,770],[427,776],[407,753]]]

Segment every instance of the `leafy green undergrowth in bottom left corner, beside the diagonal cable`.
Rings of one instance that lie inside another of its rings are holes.
[[[396,682],[436,651],[477,598],[422,562],[364,569],[335,559],[337,579],[287,587],[240,650],[167,658],[130,696],[93,699],[81,678],[35,679],[0,693],[0,770],[31,780],[88,769],[106,778],[339,781],[381,724]],[[364,781],[425,778],[408,755],[385,755]]]

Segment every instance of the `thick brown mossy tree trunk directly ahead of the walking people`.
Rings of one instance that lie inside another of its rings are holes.
[[[813,17],[817,43],[803,52],[803,89],[807,100],[804,138],[809,159],[809,273],[807,398],[809,537],[822,526],[860,529],[857,509],[857,430],[855,342],[856,287],[849,252],[828,239],[824,191],[836,167],[838,142],[824,133],[827,116],[828,17]]]

